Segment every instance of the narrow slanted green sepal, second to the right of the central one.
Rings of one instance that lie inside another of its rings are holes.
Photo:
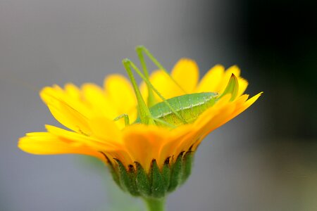
[[[184,153],[185,152],[181,152],[180,155],[178,155],[175,163],[172,165],[168,192],[174,191],[180,184],[180,180],[182,179],[182,155],[184,155]]]

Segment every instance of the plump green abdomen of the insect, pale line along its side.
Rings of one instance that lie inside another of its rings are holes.
[[[192,123],[197,120],[197,117],[207,108],[213,106],[217,95],[218,94],[214,92],[185,94],[183,96],[170,98],[166,101],[179,113],[183,120],[187,123]],[[184,124],[164,102],[157,103],[149,108],[149,110],[152,117],[156,119],[163,120],[175,126]],[[161,123],[157,122],[157,124]]]

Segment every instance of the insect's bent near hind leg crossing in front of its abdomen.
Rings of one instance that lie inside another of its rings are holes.
[[[168,101],[166,101],[166,98],[164,98],[160,93],[159,93],[159,91],[157,91],[157,89],[155,89],[155,87],[153,86],[153,84],[151,84],[151,82],[149,82],[149,80],[147,79],[147,77],[145,77],[143,74],[142,74],[142,72],[139,70],[139,68],[137,68],[137,66],[134,64],[134,63],[132,63],[132,61],[131,60],[128,60],[128,59],[125,59],[125,60],[123,60],[123,63],[125,64],[125,66],[128,66],[128,68],[130,68],[130,66],[135,70],[135,72],[137,72],[137,74],[139,75],[139,77],[141,77],[143,80],[144,80],[144,82],[145,83],[147,83],[147,85],[149,86],[149,87],[151,87],[151,89],[162,99],[162,101],[166,104],[166,106],[168,106],[168,108],[170,108],[170,110],[180,119],[180,120],[182,120],[182,122],[184,123],[184,124],[187,124],[187,122],[186,122],[186,120],[184,120],[184,118],[172,107],[172,106],[170,106],[170,103],[168,103]],[[127,69],[127,68],[126,68]],[[131,69],[129,69],[130,71],[131,71]],[[128,71],[128,70],[127,70]],[[130,72],[129,73],[130,75],[132,75],[132,72]],[[132,76],[133,77],[133,76]],[[134,79],[134,78],[133,78]],[[134,79],[135,80],[135,79]],[[133,86],[136,86],[136,88],[138,89],[138,91],[139,91],[139,88],[137,87],[137,84],[136,84],[136,82],[134,82],[135,83],[135,85],[133,85]],[[139,95],[140,95],[140,98],[142,98],[142,96],[141,96],[141,93],[139,92]],[[143,101],[143,98],[142,98],[142,101]],[[144,101],[143,101],[143,103],[144,103]],[[144,103],[144,105],[145,105],[145,103]],[[149,108],[147,108],[148,110],[149,110]],[[151,113],[149,113],[149,115],[148,116],[151,116]]]

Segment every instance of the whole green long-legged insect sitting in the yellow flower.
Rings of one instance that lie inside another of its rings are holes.
[[[155,124],[167,127],[177,127],[180,124],[189,124],[197,120],[201,113],[213,106],[214,103],[216,103],[216,101],[218,101],[218,99],[225,94],[230,93],[232,99],[237,96],[237,78],[233,74],[228,82],[225,91],[221,96],[219,96],[219,94],[216,92],[186,94],[184,89],[180,87],[175,79],[173,79],[173,77],[170,76],[166,69],[163,68],[161,63],[159,63],[159,61],[156,60],[156,58],[154,58],[154,56],[152,56],[152,54],[144,46],[137,46],[136,51],[142,65],[143,73],[139,70],[139,68],[137,68],[137,65],[132,63],[131,60],[127,58],[123,60],[123,65],[125,67],[125,70],[128,72],[128,75],[132,82],[132,87],[135,90],[135,95],[137,97],[138,103],[138,117],[133,124]],[[173,80],[173,82],[178,85],[178,87],[180,87],[182,91],[184,91],[184,95],[166,99],[159,93],[159,91],[153,86],[153,84],[149,82],[149,72],[147,71],[147,65],[145,63],[143,53],[145,53],[159,69],[166,72],[166,74]],[[141,77],[147,84],[147,89],[149,93],[147,104],[149,105],[149,107],[146,105],[144,99],[142,98],[141,92],[139,91],[139,87],[137,86],[137,82],[135,80],[135,77],[133,76],[131,68],[135,70],[139,77]],[[159,98],[161,98],[162,102],[155,103],[154,93],[157,94]],[[116,117],[115,120],[119,120],[120,118],[124,118],[126,125],[130,124],[130,120],[127,114],[120,115]]]

